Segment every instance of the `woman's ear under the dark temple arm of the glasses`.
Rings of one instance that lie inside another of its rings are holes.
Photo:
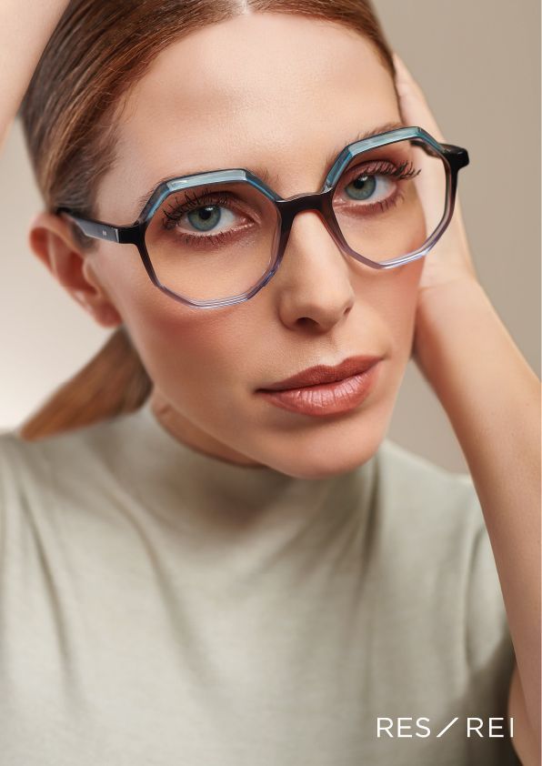
[[[75,243],[65,218],[45,211],[30,224],[28,243],[66,292],[105,328],[123,319],[90,266],[90,255]]]

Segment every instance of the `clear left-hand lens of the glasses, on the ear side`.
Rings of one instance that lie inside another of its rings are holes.
[[[247,292],[276,256],[274,203],[246,181],[172,192],[146,230],[160,282],[187,298],[214,300]]]

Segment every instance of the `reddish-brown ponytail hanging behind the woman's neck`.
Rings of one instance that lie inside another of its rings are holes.
[[[82,428],[141,407],[152,388],[124,326],[18,429],[27,440]]]

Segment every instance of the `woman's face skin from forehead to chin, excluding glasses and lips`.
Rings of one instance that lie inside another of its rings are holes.
[[[97,213],[130,224],[136,200],[161,178],[226,167],[265,167],[281,197],[316,192],[327,156],[400,119],[392,77],[354,31],[300,15],[237,16],[168,47],[135,86]],[[166,428],[216,457],[316,478],[353,469],[385,438],[422,266],[359,264],[305,211],[276,275],[235,306],[172,300],[152,285],[135,246],[100,242],[87,269],[128,328]],[[382,360],[368,397],[348,412],[292,412],[256,393],[359,354]]]

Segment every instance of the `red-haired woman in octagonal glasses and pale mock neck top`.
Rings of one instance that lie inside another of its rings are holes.
[[[53,33],[30,241],[115,332],[1,440],[5,762],[535,763],[539,381],[465,150],[366,2],[53,5],[3,25]],[[473,482],[385,438],[411,354]]]

